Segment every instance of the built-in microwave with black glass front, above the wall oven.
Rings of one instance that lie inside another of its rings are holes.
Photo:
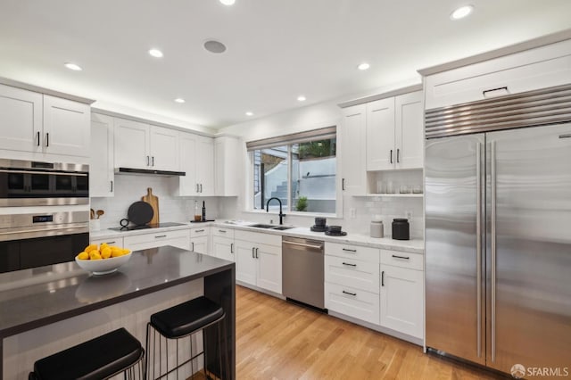
[[[88,203],[88,165],[0,160],[0,207]]]

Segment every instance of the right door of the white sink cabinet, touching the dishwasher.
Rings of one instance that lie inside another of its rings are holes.
[[[256,244],[258,281],[256,285],[274,293],[282,293],[282,247]]]

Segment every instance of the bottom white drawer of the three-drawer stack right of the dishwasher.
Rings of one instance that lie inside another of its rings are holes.
[[[366,292],[351,286],[325,283],[325,307],[328,310],[378,325],[379,302],[380,297],[377,293]]]

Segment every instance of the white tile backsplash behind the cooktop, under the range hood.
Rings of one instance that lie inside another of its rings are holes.
[[[219,218],[219,198],[181,197],[178,191],[178,177],[153,175],[115,175],[115,196],[91,198],[91,208],[103,210],[101,227],[120,227],[120,219],[127,218],[128,207],[146,195],[147,187],[159,198],[159,219],[161,222],[187,222],[194,217],[194,200],[199,202],[202,212],[206,202],[206,217]]]

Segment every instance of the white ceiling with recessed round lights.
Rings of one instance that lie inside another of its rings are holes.
[[[451,21],[466,1],[475,12]],[[0,76],[221,128],[419,81],[418,69],[571,28],[569,0],[466,1],[2,0]],[[205,51],[209,38],[227,52]]]

